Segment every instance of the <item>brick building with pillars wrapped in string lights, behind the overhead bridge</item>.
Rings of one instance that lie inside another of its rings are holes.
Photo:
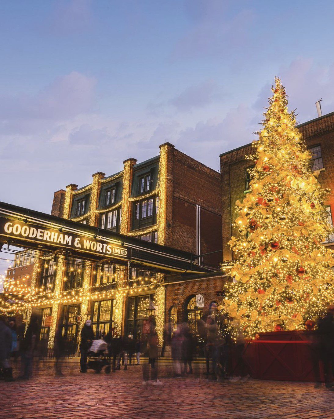
[[[197,255],[219,251],[219,173],[168,142],[159,148],[154,158],[141,163],[129,158],[118,173],[108,177],[94,173],[87,186],[70,184],[55,192],[51,214],[89,225],[96,235],[99,229],[106,229]],[[218,269],[220,261],[219,252],[201,258],[212,270]],[[169,310],[169,302],[173,303],[163,286],[164,275],[131,266],[92,264],[70,254],[40,255],[35,267],[37,287],[45,293],[69,295],[65,302],[53,301],[39,309],[40,337],[49,341],[49,347],[57,327],[75,345],[82,327],[76,322],[78,313],[84,320],[92,319],[98,337],[112,328],[117,334],[136,338],[148,318],[150,300],[158,305],[162,342],[165,308]],[[72,298],[71,291],[78,288],[98,290],[98,297],[89,302]],[[110,297],[107,292],[114,294]],[[190,296],[191,290],[186,298]]]

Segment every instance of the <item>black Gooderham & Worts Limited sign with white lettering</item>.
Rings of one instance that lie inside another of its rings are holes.
[[[114,256],[118,259],[130,259],[130,249],[122,246],[121,243],[115,245],[83,235],[62,232],[21,221],[8,220],[8,218],[3,217],[0,217],[0,235],[19,238],[33,243],[44,243],[49,246],[75,249],[99,256]]]

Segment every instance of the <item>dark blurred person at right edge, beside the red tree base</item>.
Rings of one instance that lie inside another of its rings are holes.
[[[325,385],[334,391],[334,306],[327,308],[326,315],[318,319],[319,356],[324,365]]]

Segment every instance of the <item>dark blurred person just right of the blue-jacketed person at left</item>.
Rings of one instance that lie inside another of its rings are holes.
[[[38,322],[38,316],[32,314],[21,344],[21,375],[18,377],[20,380],[29,380],[32,377],[34,351],[39,340]]]

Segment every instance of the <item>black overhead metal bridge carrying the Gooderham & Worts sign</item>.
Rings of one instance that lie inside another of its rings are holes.
[[[155,272],[210,272],[192,253],[0,202],[0,243]]]

